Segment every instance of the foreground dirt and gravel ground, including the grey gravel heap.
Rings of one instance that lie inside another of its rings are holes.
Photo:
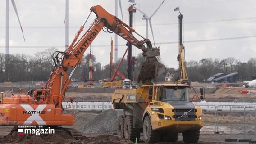
[[[67,126],[77,128],[83,133],[82,139],[75,140],[68,136],[51,135],[51,136],[37,136],[26,135],[21,137],[17,133],[9,133],[12,126],[1,127],[2,139],[0,143],[3,144],[134,144],[128,140],[119,139],[116,134],[117,112],[113,109],[105,110],[99,114],[77,112],[77,122],[74,126]],[[237,128],[241,127],[237,126]],[[253,125],[251,125],[253,127]],[[250,129],[247,126],[247,129]],[[227,124],[219,124],[219,134],[215,134],[215,123],[206,123],[201,129],[200,139],[198,144],[248,144],[248,142],[239,142],[243,140],[244,133],[233,132],[230,135],[230,126]],[[7,135],[9,133],[9,135]],[[255,133],[253,130],[246,132],[246,139],[254,140]],[[226,139],[237,139],[236,142],[225,142]],[[141,136],[138,144],[144,144]],[[166,144],[166,143],[159,143]],[[184,144],[182,134],[179,134],[178,141],[174,144]]]

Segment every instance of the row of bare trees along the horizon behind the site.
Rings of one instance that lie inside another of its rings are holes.
[[[0,53],[0,82],[11,81],[47,81],[53,69],[52,54],[58,49],[50,48],[42,52],[37,52],[34,56],[26,54],[3,54]],[[145,61],[142,54],[136,57],[136,64],[133,67],[133,80],[137,80],[140,72],[141,62]],[[93,71],[93,78],[95,80],[110,78],[110,64],[100,66],[96,62],[96,56],[92,55],[92,61],[96,64]],[[121,61],[118,59],[114,63],[116,68]],[[161,63],[160,57],[158,61]],[[178,62],[177,62],[178,63]],[[213,59],[203,58],[200,61],[185,61],[185,69],[189,81],[205,82],[210,76],[217,73],[232,73],[238,72],[237,81],[251,81],[256,79],[256,58],[250,58],[246,63],[240,62],[235,58],[226,59]],[[126,75],[127,73],[127,60],[123,59],[119,67],[119,72]],[[166,66],[166,71],[157,76],[155,81],[165,81],[165,75],[169,72],[178,77],[179,70]],[[73,79],[77,82],[87,81],[89,75],[89,54],[83,56],[82,63],[73,74]],[[119,76],[117,76],[121,79]]]

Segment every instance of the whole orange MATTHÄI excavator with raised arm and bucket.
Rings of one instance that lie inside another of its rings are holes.
[[[51,72],[50,78],[41,89],[30,91],[31,95],[28,93],[12,94],[10,97],[1,99],[0,125],[73,125],[75,122],[74,114],[63,113],[62,103],[68,103],[65,99],[67,98],[65,91],[71,83],[73,72],[82,61],[84,52],[103,27],[107,29],[107,32],[116,33],[143,51],[146,61],[142,63],[142,72],[139,75],[139,80],[142,81],[142,84],[149,83],[155,76],[164,72],[165,66],[160,64],[155,58],[155,56],[160,55],[160,49],[152,47],[150,40],[142,36],[143,40],[137,40],[128,31],[131,30],[137,34],[132,27],[129,27],[114,15],[109,14],[99,5],[91,7],[91,12],[94,12],[97,18],[95,18],[81,38],[78,40],[91,13],[80,27],[69,48],[64,52],[56,51],[53,54],[54,69]],[[137,35],[140,36],[139,34]],[[72,105],[72,99],[69,104]]]

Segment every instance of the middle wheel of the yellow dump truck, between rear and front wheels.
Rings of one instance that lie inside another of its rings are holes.
[[[128,115],[124,120],[124,138],[130,141],[136,142],[140,139],[140,131],[139,129],[133,128],[133,116]]]

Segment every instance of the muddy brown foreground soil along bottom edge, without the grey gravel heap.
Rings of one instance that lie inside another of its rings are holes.
[[[90,114],[89,114],[90,115]],[[248,144],[248,142],[239,142],[243,140],[243,133],[236,133],[232,136],[230,133],[220,130],[219,134],[215,134],[213,130],[215,126],[212,123],[206,123],[205,127],[201,129],[200,139],[197,144]],[[225,126],[223,126],[225,127]],[[125,139],[119,139],[113,134],[102,133],[83,133],[80,139],[75,139],[69,135],[18,135],[17,131],[10,132],[12,126],[4,126],[1,128],[1,144],[134,144]],[[220,127],[221,129],[221,127]],[[246,134],[247,137],[253,137],[254,132]],[[240,139],[238,139],[240,138]],[[225,142],[226,140],[237,139],[236,142]],[[254,139],[251,139],[254,140]],[[143,137],[141,136],[138,144],[144,144]],[[158,144],[167,144],[160,142]],[[178,141],[173,144],[184,144],[182,134],[179,134]]]

